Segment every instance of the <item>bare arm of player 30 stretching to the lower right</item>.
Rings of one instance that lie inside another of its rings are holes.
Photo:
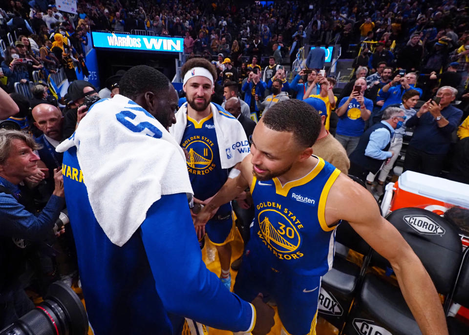
[[[365,188],[341,174],[329,193],[325,215],[329,226],[339,219],[347,220],[391,263],[422,334],[448,334],[443,307],[430,276],[399,231],[380,215],[375,199]]]

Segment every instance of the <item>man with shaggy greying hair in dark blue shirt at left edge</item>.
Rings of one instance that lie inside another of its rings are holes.
[[[30,250],[19,239],[37,242],[46,238],[65,204],[60,169],[54,170],[54,192],[39,213],[20,185],[44,177],[33,151],[38,148],[31,136],[0,129],[0,328],[34,308],[20,280]]]

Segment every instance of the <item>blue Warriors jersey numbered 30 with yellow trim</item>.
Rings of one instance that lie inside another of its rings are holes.
[[[303,178],[281,185],[277,178],[253,178],[254,227],[247,249],[260,254],[272,269],[323,275],[334,257],[335,228],[324,210],[329,190],[340,174],[319,158]]]

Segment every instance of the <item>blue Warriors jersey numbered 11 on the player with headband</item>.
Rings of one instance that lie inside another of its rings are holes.
[[[187,170],[194,197],[200,200],[210,198],[228,179],[228,169],[221,168],[212,113],[200,122],[187,117],[181,147],[189,153]]]

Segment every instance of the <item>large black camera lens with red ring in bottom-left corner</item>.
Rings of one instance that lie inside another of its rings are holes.
[[[86,335],[88,317],[78,295],[61,281],[52,283],[39,306],[0,331],[0,335]]]

